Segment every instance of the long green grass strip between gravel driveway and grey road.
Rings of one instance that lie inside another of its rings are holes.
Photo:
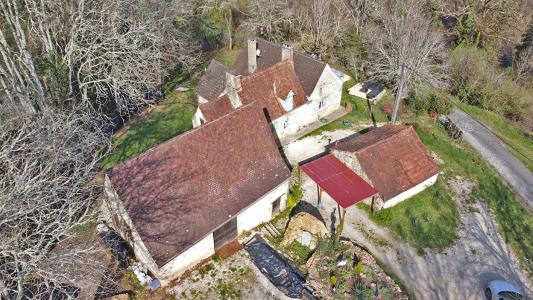
[[[533,216],[521,204],[491,167],[466,142],[461,147],[453,144],[440,125],[429,131],[417,130],[429,150],[444,160],[441,176],[464,176],[475,184],[473,196],[482,199],[490,208],[500,233],[511,246],[521,265],[533,279]],[[409,200],[411,201],[411,200]],[[407,201],[407,202],[409,202]]]

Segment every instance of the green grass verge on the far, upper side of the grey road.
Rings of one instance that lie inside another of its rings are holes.
[[[533,172],[533,135],[522,131],[505,117],[459,101],[454,104],[489,127],[516,158]]]

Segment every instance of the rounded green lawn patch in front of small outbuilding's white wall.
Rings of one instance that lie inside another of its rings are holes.
[[[408,201],[376,212],[372,219],[390,228],[423,254],[427,248],[442,250],[454,243],[459,214],[439,179]]]

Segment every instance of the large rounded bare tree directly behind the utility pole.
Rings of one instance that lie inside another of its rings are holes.
[[[403,64],[409,88],[446,85],[445,43],[417,1],[385,0],[375,6],[373,18],[364,35],[374,78],[397,88]]]

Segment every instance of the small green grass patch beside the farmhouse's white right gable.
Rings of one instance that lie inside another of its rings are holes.
[[[319,135],[326,131],[335,131],[337,129],[348,128],[354,129],[360,126],[361,124],[372,124],[373,120],[377,123],[388,122],[387,116],[385,115],[385,113],[383,113],[383,107],[393,100],[391,94],[387,93],[385,97],[383,97],[383,99],[381,99],[376,105],[373,105],[371,114],[365,99],[348,94],[348,88],[352,87],[355,83],[356,82],[351,79],[345,82],[342,88],[341,106],[351,106],[351,111],[343,117],[307,133],[299,139]],[[348,121],[349,124],[347,126],[344,125],[344,121]]]

